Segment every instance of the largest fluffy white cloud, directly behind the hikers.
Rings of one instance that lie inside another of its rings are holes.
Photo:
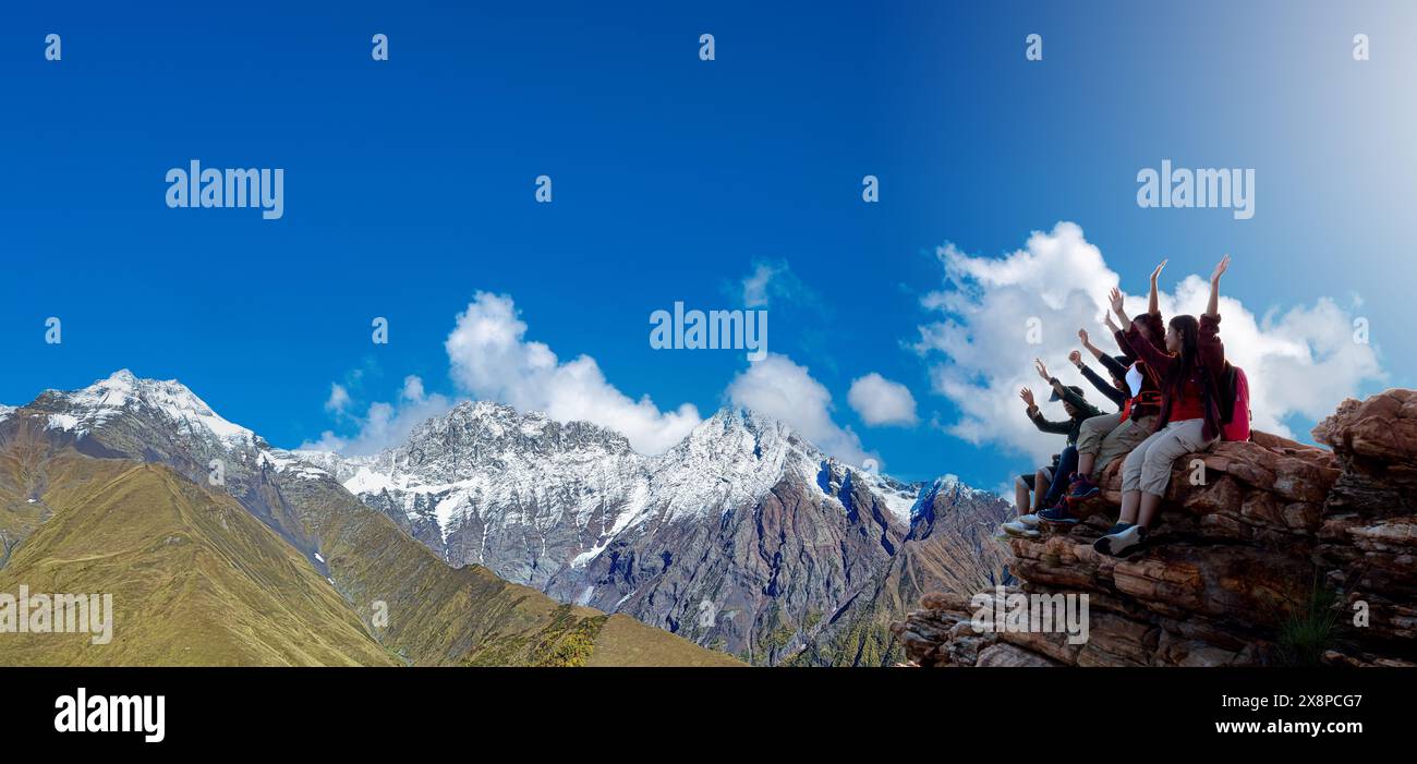
[[[1118,275],[1073,223],[1034,231],[1023,249],[1003,258],[968,257],[954,245],[937,254],[945,286],[921,302],[939,318],[920,326],[915,349],[931,361],[934,390],[961,411],[945,429],[975,444],[992,442],[1034,461],[1047,459],[1061,438],[1037,432],[1023,415],[1017,391],[1046,387],[1032,370],[1033,357],[1041,357],[1066,381],[1077,381],[1067,380],[1071,369],[1066,357],[1078,346],[1078,327],[1088,329],[1098,347],[1111,349],[1101,319]],[[1287,417],[1321,418],[1365,381],[1383,377],[1376,352],[1353,342],[1352,316],[1332,299],[1282,313],[1270,310],[1257,319],[1240,300],[1226,296],[1227,289],[1243,292],[1246,278],[1255,275],[1246,272],[1241,259],[1221,283],[1220,336],[1230,361],[1250,380],[1254,427],[1292,437],[1282,424]],[[1145,282],[1139,286],[1145,289]],[[1162,316],[1202,313],[1209,289],[1204,278],[1182,279],[1175,292],[1161,295]],[[1127,310],[1136,315],[1146,309],[1145,302],[1145,293],[1128,296]],[[1030,319],[1039,322],[1039,344],[1029,342]],[[1100,400],[1090,386],[1084,388]],[[1050,417],[1063,417],[1061,404],[1043,405]]]

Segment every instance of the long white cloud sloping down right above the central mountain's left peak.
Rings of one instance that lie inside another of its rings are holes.
[[[476,398],[608,427],[643,454],[669,449],[701,421],[687,403],[660,411],[649,395],[631,398],[605,380],[595,359],[561,361],[526,332],[510,296],[478,292],[444,343],[453,381]]]

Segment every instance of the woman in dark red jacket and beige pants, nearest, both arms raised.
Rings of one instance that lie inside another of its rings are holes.
[[[1161,498],[1170,482],[1170,466],[1183,454],[1206,451],[1220,439],[1220,390],[1226,347],[1220,342],[1220,276],[1230,268],[1226,255],[1210,274],[1206,313],[1176,316],[1166,327],[1166,352],[1148,342],[1142,322],[1122,312],[1122,292],[1112,289],[1112,312],[1122,323],[1128,347],[1155,374],[1161,387],[1156,429],[1122,462],[1122,515],[1097,540],[1102,554],[1127,557],[1146,540]]]

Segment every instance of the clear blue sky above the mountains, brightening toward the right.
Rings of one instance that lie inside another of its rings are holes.
[[[959,286],[945,242],[1000,258],[1058,221],[1131,293],[1161,257],[1170,289],[1230,252],[1226,293],[1258,318],[1331,298],[1369,322],[1380,366],[1352,393],[1417,384],[1411,4],[145,6],[0,14],[3,403],[129,367],[276,445],[350,438],[407,376],[476,393],[445,340],[489,292],[563,363],[588,354],[625,395],[707,417],[743,353],[656,352],[648,316],[741,308],[769,264],[785,268],[769,350],[830,395],[832,427],[891,473],[992,488],[1056,445],[961,437],[990,401],[939,390],[952,361],[914,347],[941,320],[921,299]],[[44,60],[48,33],[62,61]],[[1029,33],[1043,61],[1024,60]],[[1356,33],[1370,61],[1353,61]],[[191,159],[283,167],[285,217],[167,208],[163,177]],[[1254,167],[1255,217],[1139,208],[1136,172],[1162,159]],[[1040,352],[1063,369],[1057,337]],[[990,363],[1015,356],[1026,370],[1026,352]],[[911,391],[915,425],[849,405],[869,373]],[[346,414],[326,407],[332,383]],[[1277,417],[1304,434],[1305,405]]]

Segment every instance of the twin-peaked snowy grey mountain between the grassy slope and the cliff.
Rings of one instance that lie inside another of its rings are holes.
[[[928,486],[843,465],[747,410],[718,411],[659,456],[587,422],[485,401],[428,420],[377,456],[292,456],[336,475],[453,566],[487,566],[754,663],[791,659],[822,631],[839,662],[854,663],[863,648],[826,628],[833,615],[870,601],[898,617],[925,591],[908,587],[951,578],[898,575],[900,595],[881,598],[877,577],[907,540],[931,534],[930,513],[917,515],[931,506],[921,503]],[[968,499],[959,515],[1002,517],[992,495],[956,498]],[[958,585],[1000,567],[992,544],[917,546],[903,570],[956,570]],[[854,639],[890,639],[890,618],[877,615]],[[830,651],[816,662],[832,662]],[[881,645],[879,656],[898,652]]]

